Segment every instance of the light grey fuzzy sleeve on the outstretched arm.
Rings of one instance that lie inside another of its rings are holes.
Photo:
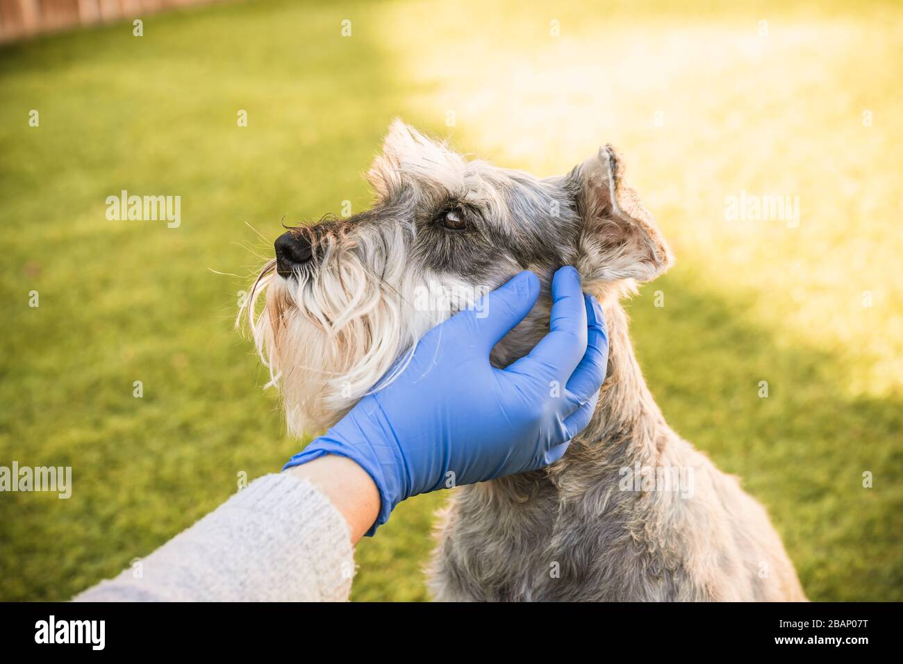
[[[348,524],[310,482],[265,475],[75,602],[348,600]]]

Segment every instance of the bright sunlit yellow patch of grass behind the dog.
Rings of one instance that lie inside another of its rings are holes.
[[[429,90],[417,117],[455,144],[541,174],[618,146],[680,269],[752,295],[756,319],[788,343],[842,353],[848,393],[898,392],[903,13],[782,7],[700,19],[691,8],[405,3],[384,29],[401,75]],[[727,197],[742,192],[798,197],[798,228],[726,220]]]

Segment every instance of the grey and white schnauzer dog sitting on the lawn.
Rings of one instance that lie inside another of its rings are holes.
[[[551,466],[452,493],[428,570],[437,600],[805,600],[766,511],[672,431],[640,372],[619,301],[674,258],[624,170],[606,145],[538,178],[396,120],[368,172],[373,208],[289,229],[257,276],[248,320],[299,435],[390,384],[463,294],[540,277],[498,367],[548,332],[556,268],[576,267],[599,300],[610,358],[591,423]],[[448,296],[418,306],[437,285]]]

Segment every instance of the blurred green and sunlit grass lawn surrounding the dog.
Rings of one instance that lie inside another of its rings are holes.
[[[903,600],[899,3],[0,5],[0,465],[73,476],[0,493],[0,600],[115,575],[299,449],[237,304],[283,222],[368,206],[396,116],[538,175],[619,147],[677,257],[628,304],[670,424],[811,599]],[[107,220],[122,190],[181,225]],[[731,214],[766,195],[798,223]],[[354,599],[427,599],[443,500],[358,546]]]

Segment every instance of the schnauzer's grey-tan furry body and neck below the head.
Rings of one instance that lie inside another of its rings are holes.
[[[666,425],[640,374],[619,304],[606,306],[605,318],[609,373],[590,425],[547,470],[458,490],[438,528],[433,595],[452,601],[805,600],[765,510]],[[649,487],[648,475],[634,482],[638,468],[692,469],[684,473],[692,497],[685,487]],[[625,469],[634,475],[630,482]]]

